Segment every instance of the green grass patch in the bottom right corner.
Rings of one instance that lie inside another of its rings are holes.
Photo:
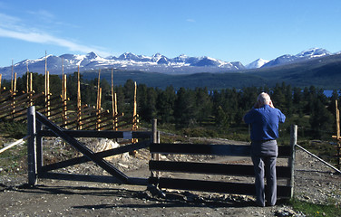
[[[292,199],[290,205],[296,212],[303,212],[307,216],[341,216],[341,209],[333,204],[315,204]]]

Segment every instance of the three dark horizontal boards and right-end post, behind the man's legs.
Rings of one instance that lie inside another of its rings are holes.
[[[290,146],[278,146],[278,158],[287,158],[287,166],[277,166],[278,180],[286,179],[286,185],[278,185],[278,197],[291,198],[294,189],[295,145],[297,126],[291,130]],[[153,155],[203,155],[203,156],[250,156],[250,146],[207,144],[151,144]],[[156,157],[158,158],[158,157]],[[253,165],[212,164],[202,162],[179,162],[151,160],[151,171],[203,175],[254,176]],[[234,193],[254,195],[255,184],[228,183],[208,180],[176,179],[151,173],[150,183],[159,188],[200,192]]]

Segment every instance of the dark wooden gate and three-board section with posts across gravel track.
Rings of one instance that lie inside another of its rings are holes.
[[[255,194],[254,184],[227,183],[219,181],[177,179],[161,177],[161,171],[172,173],[195,173],[203,175],[254,176],[252,165],[229,165],[202,162],[161,161],[160,154],[166,155],[209,155],[209,156],[244,156],[249,157],[250,146],[239,145],[207,145],[207,144],[163,144],[157,131],[156,120],[151,131],[112,131],[112,130],[66,130],[44,117],[40,112],[30,107],[27,112],[28,122],[28,181],[36,184],[37,178],[73,180],[84,182],[102,182],[115,184],[154,184],[158,188],[170,188],[189,191],[216,193]],[[44,127],[43,127],[44,126]],[[61,137],[73,146],[83,156],[43,165],[43,137]],[[94,153],[79,142],[76,137],[107,137],[123,139],[141,139],[136,144],[119,146],[110,150]],[[279,146],[278,157],[287,158],[286,166],[277,166],[278,179],[286,179],[286,185],[278,185],[278,197],[292,197],[294,189],[295,149],[297,144],[297,126],[292,127],[290,146]],[[150,148],[152,159],[149,162],[151,176],[149,178],[129,177],[104,159],[107,156],[132,152],[141,148]],[[54,170],[66,166],[83,164],[93,161],[102,167],[109,175],[76,175],[56,173]],[[158,173],[155,173],[158,172]]]

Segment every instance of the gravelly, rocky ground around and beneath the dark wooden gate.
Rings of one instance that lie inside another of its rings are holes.
[[[203,138],[193,138],[200,139]],[[206,139],[205,139],[206,140]],[[97,141],[86,140],[86,144]],[[106,140],[106,142],[108,142]],[[62,141],[46,140],[45,162],[69,157],[55,145],[63,146]],[[209,143],[236,144],[226,139],[209,139]],[[107,143],[106,143],[107,144]],[[112,146],[112,144],[110,144]],[[62,148],[63,150],[65,148]],[[0,156],[1,157],[1,156]],[[161,156],[182,160],[209,162],[234,162],[250,164],[248,158],[227,158],[206,156],[188,159],[187,156]],[[145,177],[148,170],[148,150],[140,150],[136,156],[128,154],[108,159],[126,175]],[[278,165],[286,164],[279,160]],[[105,175],[105,172],[92,163],[62,169],[61,172],[92,175]],[[173,176],[163,174],[165,176]],[[241,177],[200,176],[203,179],[224,179],[233,181]],[[249,180],[253,182],[253,180]],[[31,188],[26,185],[26,173],[5,173],[0,169],[0,215],[2,216],[305,216],[294,212],[286,201],[279,200],[273,207],[260,208],[254,205],[254,197],[221,193],[199,193],[163,190],[163,196],[147,186],[126,184],[99,184],[59,180],[38,180]],[[295,196],[299,200],[336,204],[341,206],[341,175],[318,162],[305,152],[297,150],[295,171]]]

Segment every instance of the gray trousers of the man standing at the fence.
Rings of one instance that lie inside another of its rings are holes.
[[[256,199],[260,206],[265,206],[265,199],[268,205],[275,205],[277,201],[276,159],[276,156],[252,156],[256,175]],[[265,171],[267,171],[267,193],[264,188]]]

